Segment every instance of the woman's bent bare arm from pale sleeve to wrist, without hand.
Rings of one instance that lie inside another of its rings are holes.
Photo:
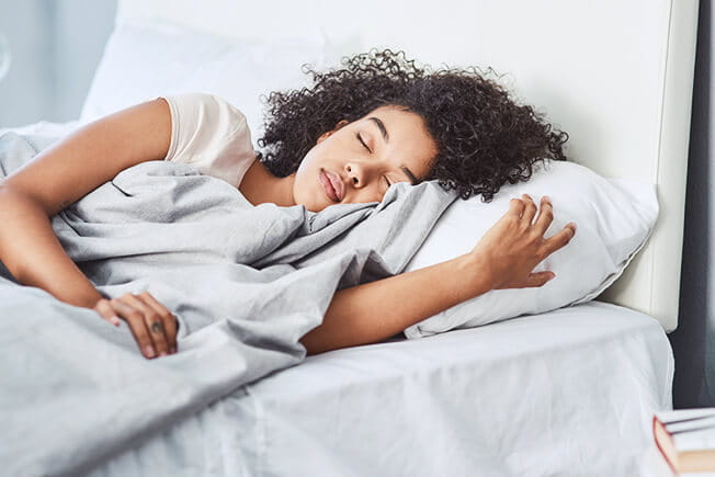
[[[92,308],[100,293],[63,249],[49,217],[122,170],[163,159],[171,140],[166,100],[88,124],[0,180],[0,260],[21,283]]]

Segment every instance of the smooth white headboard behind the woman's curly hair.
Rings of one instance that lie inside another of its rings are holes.
[[[509,73],[518,98],[569,133],[569,158],[658,185],[649,243],[600,299],[677,327],[697,0],[120,0],[117,19],[250,41],[320,31],[334,58],[389,47]]]

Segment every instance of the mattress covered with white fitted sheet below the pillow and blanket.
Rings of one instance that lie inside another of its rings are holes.
[[[672,377],[658,321],[591,302],[308,356],[92,475],[650,475]]]

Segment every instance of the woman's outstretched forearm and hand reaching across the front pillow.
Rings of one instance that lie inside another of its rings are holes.
[[[568,243],[576,226],[544,239],[553,220],[551,203],[542,200],[532,224],[536,205],[524,197],[511,201],[509,212],[472,252],[337,292],[324,322],[300,339],[307,354],[378,342],[490,289],[541,286],[553,279],[552,272],[531,272]]]

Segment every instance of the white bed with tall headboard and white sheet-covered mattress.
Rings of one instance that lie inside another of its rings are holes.
[[[348,13],[321,1],[122,0],[82,117],[15,130],[61,135],[143,99],[201,88],[242,104],[260,132],[258,94],[303,77],[275,71],[307,56],[334,65],[388,46],[433,65],[508,71],[521,96],[568,130],[569,152],[581,163],[656,184],[660,216],[646,246],[597,300],[307,356],[169,427],[148,427],[121,452],[35,468],[91,476],[650,475],[650,419],[672,408],[666,333],[678,326],[697,2],[370,0]],[[266,18],[270,29],[258,21]],[[434,25],[439,36],[424,33]],[[192,33],[180,37],[175,29]],[[164,42],[151,43],[152,32]],[[206,56],[219,37],[248,45],[250,55],[232,58],[241,67],[270,64],[240,92],[229,73],[216,79],[230,55]],[[139,47],[150,54],[134,57]],[[123,77],[127,61],[146,68]]]

